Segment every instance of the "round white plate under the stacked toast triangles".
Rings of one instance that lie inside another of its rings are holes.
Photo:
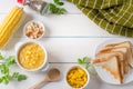
[[[102,42],[101,44],[99,44],[95,50],[95,53],[98,53],[105,44],[116,43],[116,42],[121,42],[121,41],[131,41],[133,44],[133,40],[129,40],[129,39],[110,39],[110,40],[106,40],[106,41]],[[104,70],[98,66],[94,66],[94,68],[103,81],[111,83],[111,85],[120,85],[119,81],[115,80],[106,70]],[[123,83],[129,83],[131,81],[133,81],[133,69],[130,69],[129,73],[125,75],[125,77],[123,79]]]

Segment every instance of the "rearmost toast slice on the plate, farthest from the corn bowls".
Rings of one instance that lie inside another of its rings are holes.
[[[126,47],[127,48],[127,61],[131,67],[133,67],[133,52],[132,52],[132,44],[130,41],[123,41],[119,43],[106,44],[105,47]]]

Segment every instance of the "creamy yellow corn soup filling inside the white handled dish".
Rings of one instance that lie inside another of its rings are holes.
[[[44,62],[44,51],[37,43],[28,43],[20,50],[19,61],[27,69],[39,68]]]

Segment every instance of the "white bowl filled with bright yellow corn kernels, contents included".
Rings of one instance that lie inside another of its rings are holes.
[[[90,75],[85,68],[73,66],[66,71],[65,81],[72,89],[84,89],[89,85]]]

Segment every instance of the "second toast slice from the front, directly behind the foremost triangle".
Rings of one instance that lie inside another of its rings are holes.
[[[110,50],[101,51],[101,52],[96,53],[96,58],[104,58],[104,57],[109,57],[109,56],[117,56],[119,62],[121,63],[120,72],[121,72],[122,78],[124,78],[124,71],[125,71],[124,53],[122,51],[110,51]]]

